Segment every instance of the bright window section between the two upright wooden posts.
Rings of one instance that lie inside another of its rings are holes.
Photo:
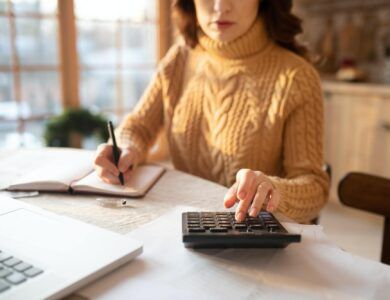
[[[121,117],[156,67],[156,1],[75,0],[75,11],[81,105]]]

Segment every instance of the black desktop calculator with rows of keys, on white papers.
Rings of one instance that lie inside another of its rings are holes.
[[[183,243],[187,248],[284,248],[301,241],[269,212],[236,222],[234,212],[185,212]]]

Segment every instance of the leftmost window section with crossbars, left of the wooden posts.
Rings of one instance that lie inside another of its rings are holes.
[[[35,145],[59,113],[57,5],[0,0],[0,145]]]

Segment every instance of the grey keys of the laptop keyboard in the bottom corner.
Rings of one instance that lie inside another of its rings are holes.
[[[42,269],[0,250],[0,293],[42,273]]]

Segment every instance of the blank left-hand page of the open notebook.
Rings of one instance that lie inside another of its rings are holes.
[[[10,182],[10,188],[45,189],[45,187],[69,186],[93,170],[93,151],[47,148],[18,151],[9,159],[0,160],[2,172],[18,170]]]

